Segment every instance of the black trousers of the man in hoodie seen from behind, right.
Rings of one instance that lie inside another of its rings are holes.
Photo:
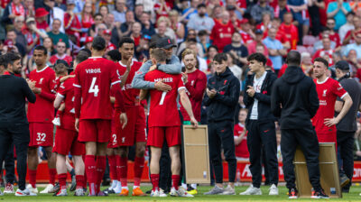
[[[297,145],[307,162],[310,184],[315,190],[320,188],[319,184],[319,141],[313,128],[283,129],[281,130],[281,152],[283,160],[283,174],[287,188],[296,188],[293,159]]]

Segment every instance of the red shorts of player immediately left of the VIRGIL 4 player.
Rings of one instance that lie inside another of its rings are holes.
[[[85,154],[85,144],[78,141],[78,133],[57,127],[55,133],[55,142],[52,152],[57,152],[62,155],[83,155]]]

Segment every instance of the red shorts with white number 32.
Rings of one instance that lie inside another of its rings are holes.
[[[29,147],[52,147],[54,125],[51,123],[29,123]]]

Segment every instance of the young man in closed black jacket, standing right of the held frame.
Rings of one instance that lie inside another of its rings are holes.
[[[216,74],[208,79],[204,103],[208,106],[209,158],[213,164],[216,186],[205,195],[235,195],[236,154],[233,126],[240,85],[239,80],[227,67],[226,53],[218,53],[213,59],[213,65]],[[223,188],[222,148],[228,162],[227,188]]]

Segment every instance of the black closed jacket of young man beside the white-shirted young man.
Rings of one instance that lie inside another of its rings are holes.
[[[204,105],[207,108],[208,122],[232,121],[234,122],[236,105],[238,104],[240,84],[239,80],[228,68],[225,72],[208,79],[208,89],[216,89],[217,94],[209,98],[204,96]]]

